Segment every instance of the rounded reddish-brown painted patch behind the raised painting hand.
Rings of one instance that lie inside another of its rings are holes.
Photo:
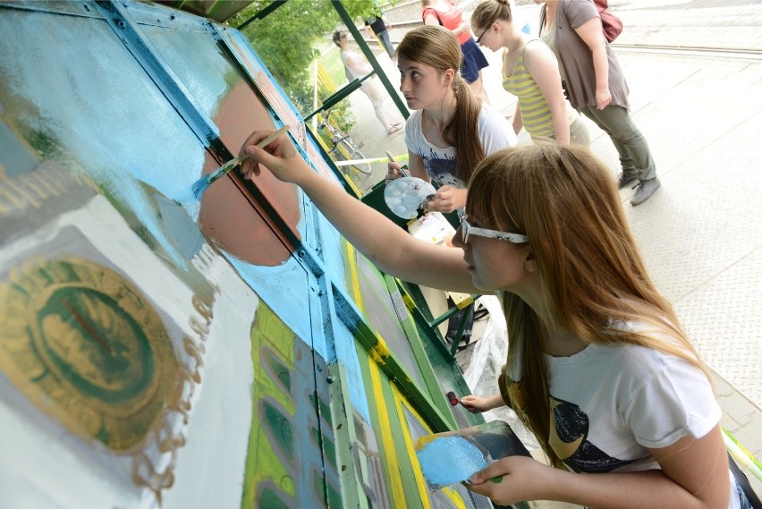
[[[267,109],[243,81],[233,87],[222,100],[215,122],[220,128],[225,147],[234,155],[238,154],[251,131],[275,129]],[[204,174],[219,165],[207,153]],[[284,263],[291,250],[283,234],[273,229],[261,206],[242,187],[238,178],[231,172],[204,193],[199,213],[201,231],[237,258],[264,266]],[[254,185],[299,238],[297,224],[300,208],[296,186],[280,182],[267,170],[259,174]]]

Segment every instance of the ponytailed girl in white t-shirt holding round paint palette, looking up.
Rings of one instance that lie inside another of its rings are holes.
[[[411,175],[441,187],[426,208],[452,212],[466,203],[474,167],[486,155],[516,144],[505,117],[482,104],[461,78],[461,48],[450,30],[425,25],[397,46],[400,91],[412,112],[405,124]],[[402,176],[389,163],[386,182]]]

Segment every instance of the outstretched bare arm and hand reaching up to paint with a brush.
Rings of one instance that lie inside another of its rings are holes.
[[[387,274],[411,283],[463,293],[478,293],[460,248],[422,242],[394,225],[341,187],[314,172],[293,148],[291,140],[281,136],[267,148],[255,145],[272,131],[254,131],[241,148],[249,155],[241,171],[256,180],[267,167],[281,181],[301,187],[324,216],[362,254]],[[267,171],[267,170],[266,170]]]

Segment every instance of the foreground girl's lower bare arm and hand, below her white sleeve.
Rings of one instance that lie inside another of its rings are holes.
[[[559,500],[596,509],[726,509],[730,479],[717,426],[701,438],[683,437],[649,449],[662,470],[574,473],[513,456],[478,472],[468,488],[501,505],[520,500]],[[487,479],[503,476],[496,482]]]

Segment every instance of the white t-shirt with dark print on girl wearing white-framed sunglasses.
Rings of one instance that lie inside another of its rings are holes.
[[[704,372],[679,357],[635,345],[589,344],[546,355],[550,445],[572,471],[658,469],[647,448],[704,437],[722,419]],[[514,366],[513,380],[521,378]],[[731,475],[729,509],[740,506]]]

